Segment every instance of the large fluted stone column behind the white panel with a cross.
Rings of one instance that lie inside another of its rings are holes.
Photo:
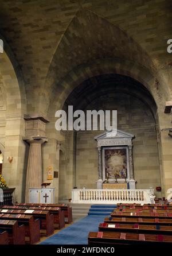
[[[45,138],[36,137],[26,140],[30,144],[26,174],[25,202],[29,203],[29,188],[41,188],[42,183],[42,154],[41,145]]]

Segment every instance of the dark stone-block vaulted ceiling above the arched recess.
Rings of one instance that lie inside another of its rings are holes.
[[[172,2],[0,0],[0,33],[21,69],[28,112],[45,113],[74,68],[125,59],[147,68],[172,95]]]

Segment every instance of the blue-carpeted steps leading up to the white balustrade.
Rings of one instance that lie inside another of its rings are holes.
[[[91,208],[89,208],[88,215],[102,215],[107,216],[111,215],[111,212],[114,211],[114,209],[117,207],[117,205],[113,204],[93,204],[91,205]]]

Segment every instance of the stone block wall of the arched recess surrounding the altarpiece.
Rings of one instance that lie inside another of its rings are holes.
[[[161,186],[155,121],[148,107],[125,94],[100,97],[99,109],[118,110],[118,129],[134,134],[133,157],[136,188]],[[95,102],[92,103],[95,106]],[[101,107],[100,107],[101,106]],[[88,108],[89,109],[89,106]],[[96,188],[97,148],[94,137],[103,131],[77,132],[76,185]]]

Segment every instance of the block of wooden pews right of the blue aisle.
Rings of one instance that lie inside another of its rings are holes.
[[[110,217],[89,232],[88,245],[172,244],[172,205],[118,204]]]

